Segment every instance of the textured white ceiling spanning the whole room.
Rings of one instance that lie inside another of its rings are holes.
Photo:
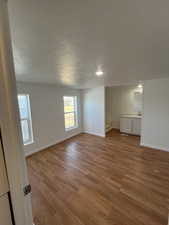
[[[9,0],[9,15],[19,81],[88,88],[169,77],[169,0]]]

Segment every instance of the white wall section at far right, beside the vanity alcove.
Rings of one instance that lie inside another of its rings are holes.
[[[169,151],[169,79],[144,84],[141,145]]]

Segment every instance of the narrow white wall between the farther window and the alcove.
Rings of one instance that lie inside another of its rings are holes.
[[[105,136],[105,88],[86,89],[83,93],[84,132]]]

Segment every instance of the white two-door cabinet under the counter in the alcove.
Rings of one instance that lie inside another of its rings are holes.
[[[120,132],[141,135],[141,117],[121,117]]]

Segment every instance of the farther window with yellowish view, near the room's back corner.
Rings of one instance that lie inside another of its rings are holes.
[[[78,126],[77,123],[77,97],[64,96],[64,117],[65,130],[70,130]]]

